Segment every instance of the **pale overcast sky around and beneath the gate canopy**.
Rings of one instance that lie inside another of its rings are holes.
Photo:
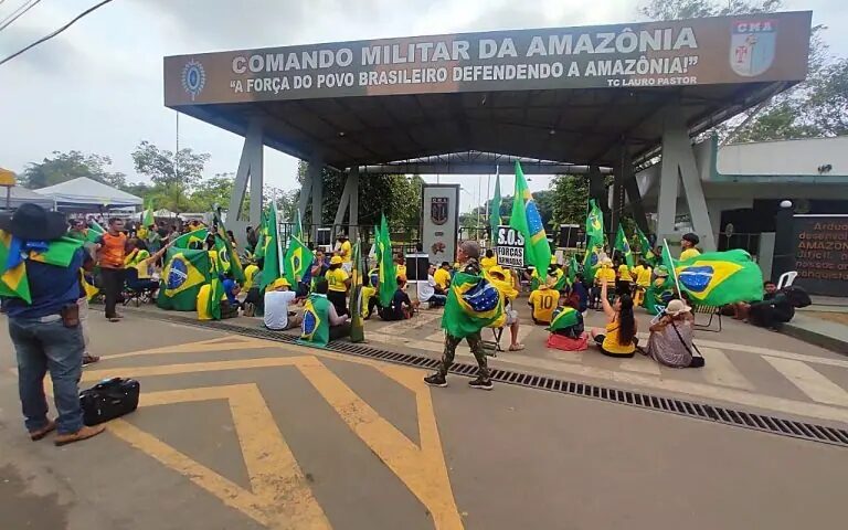
[[[0,20],[24,0],[0,4]],[[96,0],[43,0],[0,31],[7,56],[53,31]],[[115,0],[60,36],[0,66],[0,167],[15,172],[54,150],[112,157],[135,173],[129,153],[147,139],[173,149],[174,112],[162,104],[162,57],[183,53],[497,29],[640,20],[640,0]],[[848,55],[844,0],[785,0],[830,29],[825,39]],[[242,139],[188,116],[180,145],[212,155],[206,174],[235,171]],[[266,149],[266,182],[296,187],[296,160]],[[478,179],[462,180],[463,202],[479,202]],[[443,182],[460,181],[442,178]],[[531,188],[543,189],[536,178]],[[494,184],[492,184],[494,186]],[[511,179],[502,183],[511,191]],[[467,203],[466,203],[467,204]],[[466,206],[463,208],[464,210]]]

